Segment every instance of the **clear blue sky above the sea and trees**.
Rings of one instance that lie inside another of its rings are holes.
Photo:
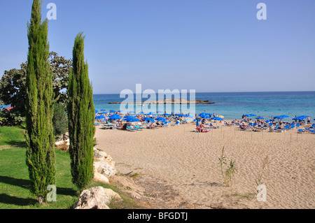
[[[43,18],[50,2],[50,50],[70,59],[83,31],[94,94],[315,89],[314,0],[50,0]],[[0,77],[27,60],[31,3],[0,0]]]

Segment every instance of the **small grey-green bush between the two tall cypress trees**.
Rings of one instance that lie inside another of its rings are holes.
[[[52,117],[52,126],[54,127],[54,135],[61,136],[66,134],[68,130],[68,116],[62,103],[55,103],[54,116]]]

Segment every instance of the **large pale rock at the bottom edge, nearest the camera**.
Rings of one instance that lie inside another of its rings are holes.
[[[112,189],[103,187],[92,187],[84,190],[80,194],[78,202],[73,206],[74,209],[109,209],[112,199],[121,199],[119,194]]]

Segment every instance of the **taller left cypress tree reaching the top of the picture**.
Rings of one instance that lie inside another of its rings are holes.
[[[34,0],[27,24],[29,52],[26,76],[26,163],[31,180],[30,192],[39,203],[47,198],[48,185],[55,184],[55,148],[52,134],[53,99],[50,71],[48,20],[41,22],[42,1]]]

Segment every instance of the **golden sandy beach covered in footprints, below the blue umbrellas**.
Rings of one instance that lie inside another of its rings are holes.
[[[142,131],[97,127],[95,148],[113,157],[119,173],[133,171],[169,188],[163,199],[170,208],[315,208],[314,134],[240,131],[212,123],[221,128],[196,133],[193,123]],[[219,166],[223,147],[227,161],[237,166],[230,187]],[[257,201],[255,192],[261,172],[265,202]]]

